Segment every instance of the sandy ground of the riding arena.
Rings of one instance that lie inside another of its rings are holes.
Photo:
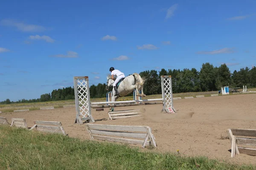
[[[162,105],[119,107],[115,111],[144,108],[145,112],[140,117],[116,120],[108,119],[109,108],[92,109],[92,113],[96,124],[151,127],[157,142],[155,151],[179,150],[186,156],[256,164],[256,156],[240,154],[231,158],[231,143],[225,139],[228,128],[256,129],[256,94],[180,99],[174,100],[174,106],[178,110],[175,114],[160,113]],[[60,121],[69,136],[90,139],[85,124],[74,124],[75,108],[1,113],[0,116],[6,117],[9,123],[12,117],[25,118],[29,127],[34,120]]]

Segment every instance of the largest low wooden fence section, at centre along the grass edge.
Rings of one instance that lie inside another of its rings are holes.
[[[141,144],[144,148],[146,145],[157,147],[155,138],[148,126],[121,126],[121,125],[96,125],[87,124],[87,130],[91,139],[120,142],[128,144]],[[114,137],[115,136],[115,137]],[[117,138],[121,137],[121,138]],[[133,139],[127,139],[133,138]],[[143,139],[143,140],[138,140]]]

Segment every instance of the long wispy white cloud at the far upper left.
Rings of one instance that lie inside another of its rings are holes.
[[[0,25],[2,26],[14,26],[20,31],[24,32],[40,32],[40,31],[45,31],[46,28],[43,26],[38,26],[38,25],[33,25],[33,24],[25,24],[21,22],[17,22],[15,20],[1,20]]]

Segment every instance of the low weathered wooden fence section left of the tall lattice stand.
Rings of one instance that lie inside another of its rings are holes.
[[[61,122],[51,122],[51,121],[34,121],[34,126],[31,129],[36,129],[41,132],[48,133],[62,133],[63,135],[67,135],[62,127]]]

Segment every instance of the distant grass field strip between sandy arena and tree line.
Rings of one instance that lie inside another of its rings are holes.
[[[256,88],[247,89],[247,91],[256,91]],[[242,89],[240,90],[242,91]],[[181,97],[184,98],[185,96],[198,96],[204,95],[205,97],[211,96],[211,94],[218,94],[218,91],[208,91],[208,92],[188,92],[188,93],[178,93],[173,94],[173,97]],[[233,95],[230,93],[230,95]],[[143,97],[143,99],[158,99],[162,98],[161,94],[157,95],[149,95]],[[133,100],[133,96],[125,96],[119,98],[117,101],[123,100]],[[97,99],[90,99],[91,102],[105,102],[106,98],[97,98]],[[40,107],[46,106],[54,106],[54,108],[63,108],[63,105],[75,105],[75,100],[61,100],[61,101],[52,101],[52,102],[34,102],[34,103],[14,103],[14,104],[0,104],[0,111],[2,112],[13,112],[14,110],[18,109],[29,109],[32,110],[39,110]]]

